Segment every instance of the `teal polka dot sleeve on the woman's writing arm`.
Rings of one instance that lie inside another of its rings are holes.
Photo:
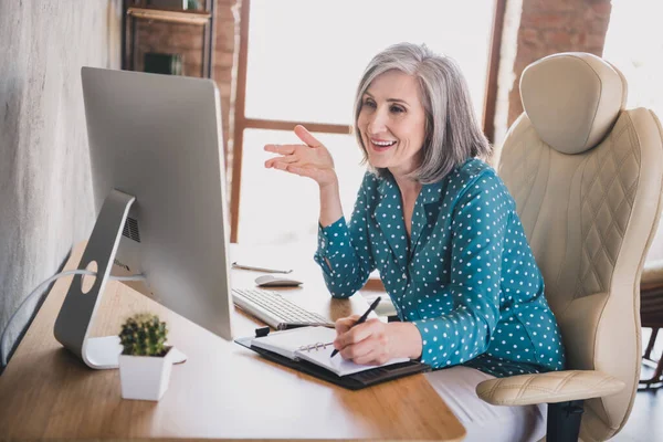
[[[485,352],[499,320],[502,252],[514,203],[494,173],[469,186],[453,210],[451,283],[434,294],[451,296],[453,309],[413,320],[423,344],[421,360],[434,368]]]

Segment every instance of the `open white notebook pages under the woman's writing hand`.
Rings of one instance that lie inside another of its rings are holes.
[[[336,330],[327,327],[301,327],[271,333],[253,338],[251,346],[273,351],[292,360],[306,360],[325,368],[337,376],[347,376],[393,364],[407,362],[408,358],[390,359],[381,366],[357,365],[345,360],[340,355],[332,356]]]

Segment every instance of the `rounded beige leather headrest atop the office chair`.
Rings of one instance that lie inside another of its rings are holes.
[[[627,104],[617,67],[583,52],[532,63],[520,77],[523,108],[539,137],[562,154],[580,154],[606,137]]]

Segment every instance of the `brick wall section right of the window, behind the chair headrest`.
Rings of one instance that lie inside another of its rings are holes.
[[[508,95],[508,126],[523,113],[518,88],[523,70],[557,52],[602,55],[610,11],[610,0],[523,0],[513,66],[515,83]]]

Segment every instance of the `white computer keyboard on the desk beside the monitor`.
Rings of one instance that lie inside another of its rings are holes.
[[[334,327],[334,323],[324,316],[299,307],[276,292],[233,288],[232,298],[238,307],[280,330],[306,325]]]

